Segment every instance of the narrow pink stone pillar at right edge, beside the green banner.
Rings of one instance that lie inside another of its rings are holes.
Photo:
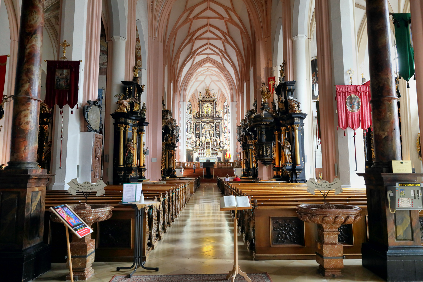
[[[414,61],[423,62],[423,3],[420,0],[410,0],[410,10],[413,26]],[[421,63],[415,63],[414,67],[416,74],[420,136],[423,136],[423,65]],[[423,140],[423,137],[420,137],[420,140]],[[423,148],[422,144],[423,142],[420,142],[420,146]]]

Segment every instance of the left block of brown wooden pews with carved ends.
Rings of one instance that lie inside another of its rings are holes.
[[[161,202],[159,208],[146,207],[144,212],[143,258],[148,259],[151,251],[157,248],[168,228],[177,219],[190,200],[190,181],[174,180],[159,183],[143,183],[145,200]],[[113,205],[110,219],[92,225],[91,238],[96,240],[95,260],[132,261],[135,238],[135,215],[132,206],[119,205],[122,200],[120,185],[107,185],[106,193],[96,197],[88,196],[87,204]],[[65,262],[66,234],[62,224],[49,220],[49,208],[60,204],[85,203],[81,192],[71,195],[66,190],[47,190],[44,214],[44,242],[52,245],[52,262]]]

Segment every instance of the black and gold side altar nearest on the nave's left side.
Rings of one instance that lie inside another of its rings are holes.
[[[137,79],[122,81],[123,92],[116,94],[118,109],[115,120],[113,145],[113,184],[143,181],[146,178],[144,133],[146,104],[140,105],[141,87]]]

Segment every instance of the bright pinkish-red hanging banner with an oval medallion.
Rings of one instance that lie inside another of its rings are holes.
[[[341,129],[371,126],[370,85],[336,85],[336,101]]]

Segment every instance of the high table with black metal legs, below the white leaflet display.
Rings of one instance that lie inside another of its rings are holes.
[[[121,269],[131,269],[135,266],[134,271],[128,275],[128,278],[131,278],[132,275],[137,270],[138,266],[141,266],[147,270],[159,271],[158,267],[145,267],[143,262],[143,232],[144,232],[144,208],[147,205],[152,205],[155,208],[159,208],[160,201],[144,201],[144,203],[138,202],[129,202],[123,203],[119,202],[119,205],[132,205],[132,208],[135,210],[135,246],[134,246],[134,263],[129,267],[116,267],[116,270]],[[148,239],[148,238],[147,238]]]

